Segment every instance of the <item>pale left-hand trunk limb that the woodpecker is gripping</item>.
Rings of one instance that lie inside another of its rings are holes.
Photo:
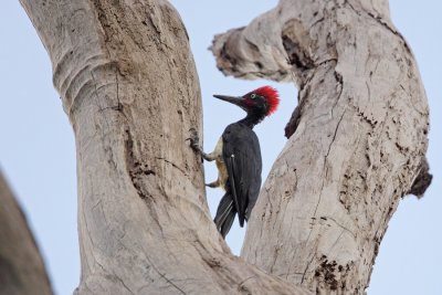
[[[231,254],[209,214],[201,99],[167,1],[21,0],[75,133],[77,294],[309,294]]]

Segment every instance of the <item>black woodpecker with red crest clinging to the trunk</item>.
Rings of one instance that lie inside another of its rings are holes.
[[[213,95],[215,98],[234,104],[246,112],[246,116],[230,124],[218,140],[214,150],[206,154],[199,146],[196,130],[192,130],[190,146],[208,161],[215,160],[218,179],[208,187],[224,189],[213,222],[222,238],[229,233],[238,213],[240,226],[244,226],[256,203],[261,188],[261,149],[253,127],[273,114],[280,103],[276,89],[263,86],[243,96]]]

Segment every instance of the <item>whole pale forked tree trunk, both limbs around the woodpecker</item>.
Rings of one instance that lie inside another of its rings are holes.
[[[427,149],[425,96],[386,3],[282,1],[214,43],[227,72],[301,84],[244,261],[218,234],[186,144],[201,134],[200,91],[169,2],[21,2],[75,131],[77,294],[364,292]]]

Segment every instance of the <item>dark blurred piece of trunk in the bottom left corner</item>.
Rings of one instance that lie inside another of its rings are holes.
[[[43,260],[0,171],[0,294],[52,294]]]

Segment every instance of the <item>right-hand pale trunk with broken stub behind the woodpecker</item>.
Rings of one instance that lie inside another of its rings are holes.
[[[399,200],[422,171],[429,185],[427,97],[388,1],[282,0],[212,51],[227,75],[299,86],[241,256],[318,294],[364,294]]]

